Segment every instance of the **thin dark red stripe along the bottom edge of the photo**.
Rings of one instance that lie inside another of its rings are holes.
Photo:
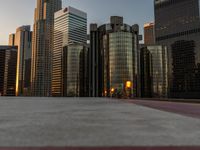
[[[199,147],[18,147],[0,150],[200,150]]]

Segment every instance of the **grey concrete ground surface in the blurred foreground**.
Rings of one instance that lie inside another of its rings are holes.
[[[8,146],[200,147],[200,119],[111,99],[0,97]]]

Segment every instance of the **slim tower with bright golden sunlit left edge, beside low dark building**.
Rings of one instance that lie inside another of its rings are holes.
[[[15,34],[15,44],[18,46],[16,96],[30,95],[32,46],[32,32],[30,28],[30,26],[21,26],[17,28]]]

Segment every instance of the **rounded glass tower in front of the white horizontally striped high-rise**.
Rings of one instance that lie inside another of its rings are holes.
[[[88,96],[88,48],[81,44],[64,47],[63,96]]]

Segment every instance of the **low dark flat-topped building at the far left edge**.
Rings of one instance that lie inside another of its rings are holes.
[[[0,46],[0,96],[15,96],[17,46]]]

